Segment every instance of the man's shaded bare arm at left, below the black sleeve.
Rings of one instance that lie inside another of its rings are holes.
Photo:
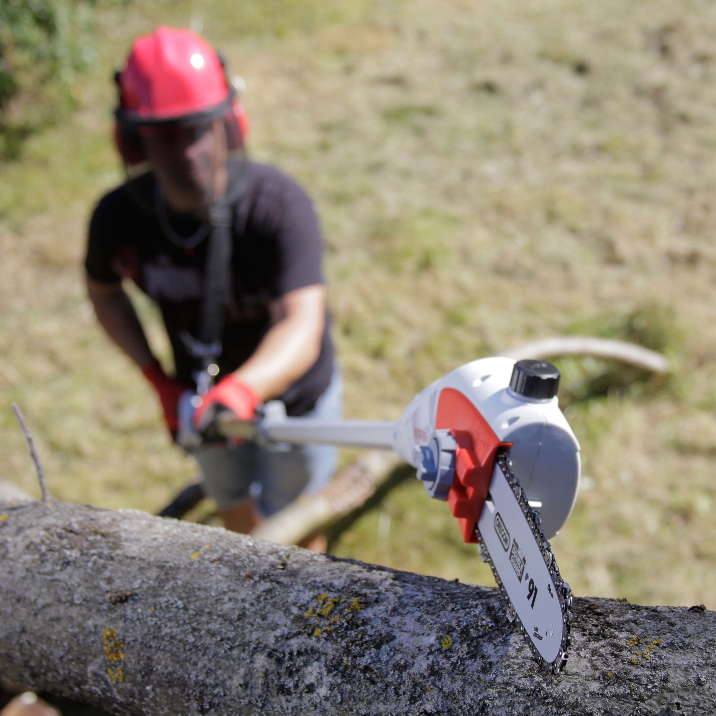
[[[87,294],[102,328],[140,369],[145,369],[154,356],[121,281],[104,284],[87,276]]]

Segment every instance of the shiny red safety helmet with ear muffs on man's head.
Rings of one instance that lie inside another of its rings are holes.
[[[115,145],[128,165],[145,160],[140,131],[148,127],[223,117],[228,148],[243,147],[248,117],[226,77],[223,59],[190,30],[159,26],[137,37],[115,82],[120,94]]]

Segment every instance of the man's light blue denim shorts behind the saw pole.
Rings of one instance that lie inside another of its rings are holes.
[[[326,392],[305,417],[340,420],[342,407],[342,374],[335,368]],[[246,440],[241,445],[206,445],[195,457],[205,492],[220,509],[252,497],[258,513],[269,517],[299,495],[324,487],[336,471],[338,450],[332,445],[291,445],[286,452],[271,452]]]

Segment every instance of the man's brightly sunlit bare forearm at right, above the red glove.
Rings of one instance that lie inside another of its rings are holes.
[[[234,372],[261,400],[278,397],[318,359],[326,323],[326,287],[289,291],[269,304],[272,326]]]

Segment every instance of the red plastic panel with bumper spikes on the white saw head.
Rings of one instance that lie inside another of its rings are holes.
[[[500,442],[480,411],[453,388],[440,392],[435,428],[450,430],[455,437],[455,477],[448,505],[458,518],[465,542],[476,543],[475,527],[490,489],[495,455],[498,448],[511,448],[512,443]]]

